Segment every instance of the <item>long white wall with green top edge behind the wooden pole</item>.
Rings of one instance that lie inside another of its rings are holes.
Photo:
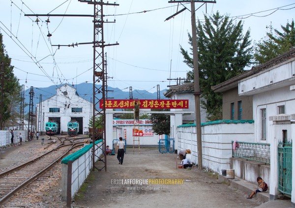
[[[253,142],[254,123],[220,123],[202,126],[203,166],[220,173],[230,169],[232,140]],[[177,150],[190,149],[192,162],[198,163],[196,127],[177,128]]]

